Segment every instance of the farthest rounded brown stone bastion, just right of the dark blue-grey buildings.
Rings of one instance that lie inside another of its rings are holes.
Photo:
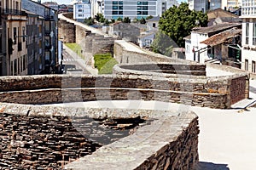
[[[58,21],[59,29],[59,39],[64,43],[76,42],[76,28],[73,24],[67,22],[66,20]]]

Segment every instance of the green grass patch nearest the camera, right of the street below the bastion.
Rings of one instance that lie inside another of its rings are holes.
[[[94,61],[99,74],[112,74],[113,65],[118,64],[111,54],[95,54]]]

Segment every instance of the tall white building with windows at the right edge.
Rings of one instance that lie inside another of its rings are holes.
[[[241,5],[241,69],[256,70],[256,1],[243,0]]]

